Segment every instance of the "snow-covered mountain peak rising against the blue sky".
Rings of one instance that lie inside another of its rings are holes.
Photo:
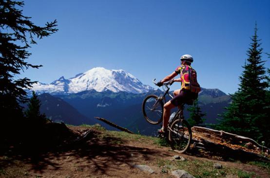
[[[143,85],[135,76],[123,70],[107,70],[102,67],[93,68],[75,77],[65,79],[63,76],[51,84],[37,83],[34,91],[39,93],[78,93],[95,89],[98,92],[110,90],[113,92],[126,91],[129,93],[144,93],[153,89]]]

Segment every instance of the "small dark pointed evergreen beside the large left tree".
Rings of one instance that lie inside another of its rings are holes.
[[[45,119],[45,114],[40,114],[40,101],[35,91],[33,96],[30,98],[28,108],[25,111],[26,118],[33,119]]]

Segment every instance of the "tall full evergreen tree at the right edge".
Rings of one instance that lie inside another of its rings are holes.
[[[257,141],[270,143],[269,131],[269,82],[262,60],[261,43],[257,36],[257,25],[247,51],[247,63],[239,77],[238,90],[231,94],[232,103],[221,116],[216,129],[251,137]]]

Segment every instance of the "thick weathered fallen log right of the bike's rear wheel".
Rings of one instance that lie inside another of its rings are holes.
[[[194,147],[203,148],[205,151],[212,153],[218,153],[223,158],[227,157],[229,159],[231,157],[240,160],[270,161],[267,158],[269,148],[263,147],[264,152],[262,152],[262,145],[250,138],[198,126],[192,127],[192,133]],[[248,147],[245,144],[247,142],[255,146]]]

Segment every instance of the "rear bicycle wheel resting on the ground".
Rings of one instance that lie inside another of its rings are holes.
[[[171,130],[172,129],[172,130]],[[178,153],[184,153],[190,147],[192,130],[185,120],[175,120],[169,130],[169,141],[172,149]]]

